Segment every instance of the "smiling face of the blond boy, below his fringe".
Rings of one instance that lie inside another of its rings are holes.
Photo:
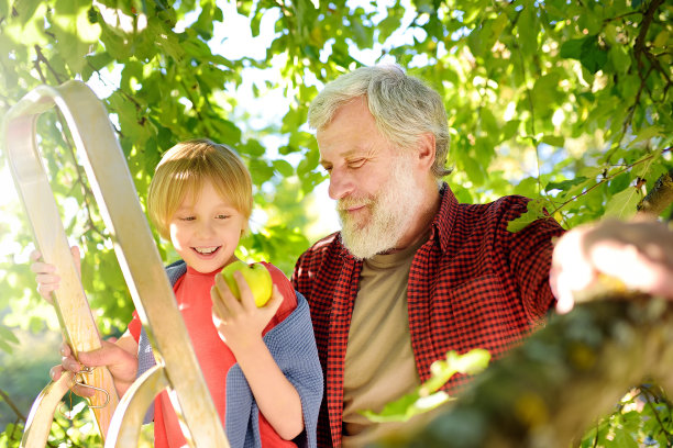
[[[233,260],[245,225],[245,216],[208,180],[196,201],[186,194],[170,219],[170,242],[187,266],[212,272]]]

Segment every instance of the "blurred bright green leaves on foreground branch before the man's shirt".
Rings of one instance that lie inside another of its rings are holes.
[[[479,373],[490,360],[490,354],[483,348],[475,348],[464,355],[449,351],[446,359],[440,359],[430,366],[431,377],[413,392],[386,404],[380,413],[362,411],[361,414],[372,422],[407,422],[415,415],[431,411],[454,397],[439,389],[455,373]]]

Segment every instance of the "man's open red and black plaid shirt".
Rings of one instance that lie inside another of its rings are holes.
[[[549,287],[552,238],[563,229],[539,220],[518,233],[507,223],[526,212],[528,200],[505,197],[489,204],[459,204],[446,186],[430,238],[409,271],[407,301],[416,367],[421,381],[430,365],[486,348],[494,359],[531,332],[554,298]],[[308,300],[326,399],[318,422],[318,446],[340,447],[343,362],[362,262],[341,244],[339,233],[309,248],[297,261],[295,288]],[[454,376],[443,388],[466,381]]]

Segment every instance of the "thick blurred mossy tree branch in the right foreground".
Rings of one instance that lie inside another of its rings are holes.
[[[426,427],[377,446],[567,448],[644,381],[673,390],[673,304],[585,303],[552,316]]]

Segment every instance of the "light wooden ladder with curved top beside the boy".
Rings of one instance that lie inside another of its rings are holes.
[[[173,405],[186,424],[191,447],[229,443],[189,341],[173,288],[164,271],[124,155],[101,101],[80,81],[41,86],[9,110],[2,142],[35,243],[55,265],[60,287],[54,307],[75,355],[101,347],[101,338],[70,255],[56,201],[36,144],[37,117],[56,107],[69,127],[100,213],[103,216],[133,303],[152,343],[156,366],[119,400],[107,368],[80,374],[79,381],[101,392],[89,400],[106,447],[137,446],[143,417],[154,397],[170,390]],[[44,447],[56,407],[76,379],[64,374],[37,396],[21,447]],[[104,392],[102,392],[104,391]]]

